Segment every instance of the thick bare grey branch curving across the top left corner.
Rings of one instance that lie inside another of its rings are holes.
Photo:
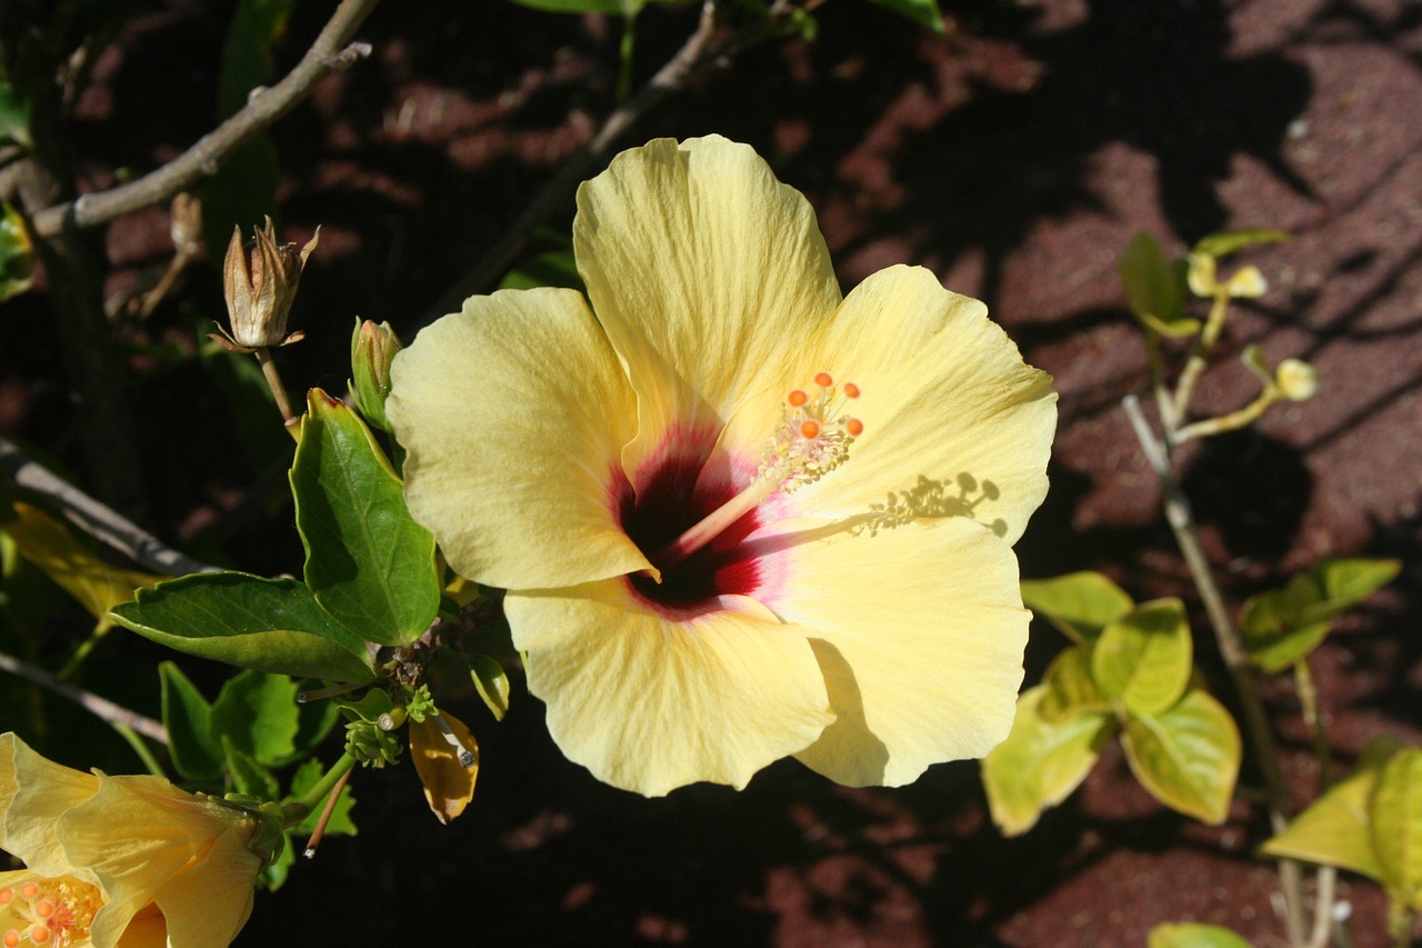
[[[216,174],[228,155],[292,111],[310,95],[317,83],[370,56],[370,44],[350,40],[378,1],[341,0],[326,28],[286,78],[272,88],[255,90],[240,111],[162,168],[117,188],[81,195],[40,211],[31,219],[36,235],[43,239],[67,229],[108,223],[125,214],[168,201],[179,191]]]

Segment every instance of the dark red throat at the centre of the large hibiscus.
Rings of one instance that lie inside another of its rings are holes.
[[[644,478],[641,491],[629,487],[623,494],[621,527],[648,559],[735,495],[724,480],[698,491],[700,473],[700,463],[668,460]],[[695,609],[718,595],[751,595],[759,586],[759,568],[741,541],[758,525],[752,510],[683,562],[663,568],[660,584],[646,575],[629,581],[644,599],[671,609]]]

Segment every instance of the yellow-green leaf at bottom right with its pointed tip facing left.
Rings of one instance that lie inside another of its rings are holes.
[[[1283,833],[1260,847],[1260,853],[1337,865],[1382,881],[1382,864],[1372,848],[1369,803],[1384,766],[1396,752],[1396,740],[1374,740],[1347,779],[1294,817]]]

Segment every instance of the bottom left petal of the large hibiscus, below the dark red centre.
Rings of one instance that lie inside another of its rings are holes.
[[[610,579],[510,592],[505,609],[557,746],[616,787],[744,787],[833,720],[803,629],[741,596],[673,619]]]

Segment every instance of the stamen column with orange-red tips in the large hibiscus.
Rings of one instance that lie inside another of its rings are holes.
[[[761,465],[739,494],[715,508],[651,557],[658,569],[670,569],[720,537],[731,524],[759,507],[776,491],[791,493],[813,484],[849,460],[849,446],[865,424],[845,414],[845,400],[828,372],[815,376],[819,393],[812,399],[795,389],[786,396],[785,414],[761,453]],[[857,399],[859,386],[843,386],[845,399]]]

